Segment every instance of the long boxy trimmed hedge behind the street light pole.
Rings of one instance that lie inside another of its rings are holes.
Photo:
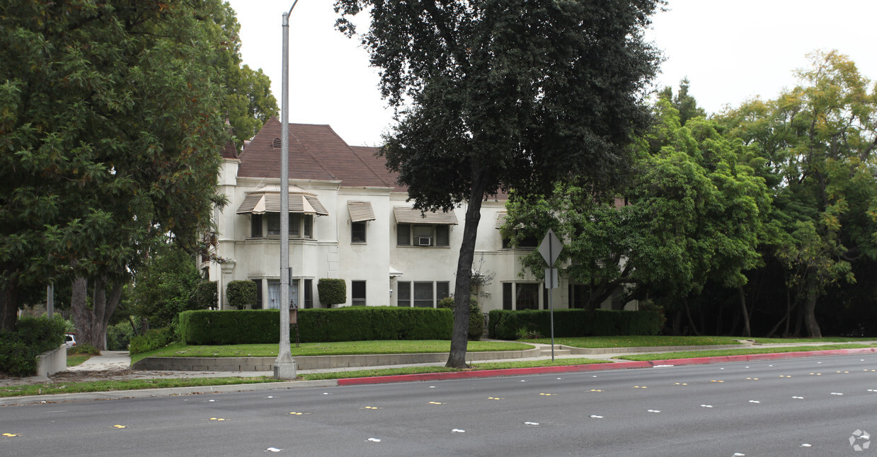
[[[303,343],[370,339],[451,339],[453,314],[432,308],[347,306],[298,311]],[[280,341],[279,310],[184,311],[187,345],[268,344]],[[295,333],[290,333],[290,338]]]

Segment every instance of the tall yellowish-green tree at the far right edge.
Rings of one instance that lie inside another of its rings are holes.
[[[855,281],[852,261],[877,259],[877,91],[843,54],[809,60],[797,72],[802,85],[722,121],[766,158],[785,233],[773,254],[787,267],[808,335],[819,337],[819,298]]]

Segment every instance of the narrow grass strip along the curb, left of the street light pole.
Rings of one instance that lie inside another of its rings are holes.
[[[255,384],[280,382],[267,376],[224,378],[161,378],[131,379],[125,381],[44,382],[0,387],[0,397],[49,394],[78,394],[83,392],[111,392],[138,389],[167,389],[173,387],[226,386],[231,384]]]

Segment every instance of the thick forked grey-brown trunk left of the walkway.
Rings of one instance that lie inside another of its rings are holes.
[[[78,339],[101,351],[106,349],[107,324],[110,322],[113,311],[116,311],[119,298],[122,296],[121,285],[113,286],[109,296],[107,296],[106,288],[105,278],[95,280],[94,293],[89,308],[87,300],[88,280],[79,276],[73,281],[73,294],[70,300]]]

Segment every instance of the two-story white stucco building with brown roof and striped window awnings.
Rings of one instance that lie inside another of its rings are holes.
[[[234,280],[256,283],[258,307],[280,307],[280,127],[269,119],[241,154],[224,153],[219,191],[229,204],[214,218],[216,253],[225,261],[200,265],[219,283],[223,309]],[[290,298],[300,307],[325,307],[317,294],[321,278],[345,280],[348,305],[433,307],[453,293],[465,204],[422,216],[375,152],[348,146],[328,125],[289,125]],[[544,278],[519,275],[518,258],[532,247],[503,247],[497,221],[504,205],[490,200],[481,207],[474,267],[494,275],[478,290],[481,307],[548,309]],[[576,303],[582,287],[561,281],[551,296],[555,309]],[[611,300],[603,307],[612,308]]]

